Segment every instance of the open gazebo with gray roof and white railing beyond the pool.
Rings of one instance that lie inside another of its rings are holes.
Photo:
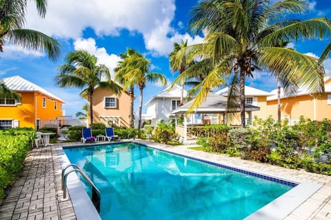
[[[205,101],[202,102],[197,109],[194,109],[193,113],[188,113],[192,102],[194,102],[194,100],[172,111],[176,120],[176,132],[181,136],[183,144],[198,138],[194,131],[197,131],[199,127],[206,124],[226,124],[226,114],[229,112],[227,108],[228,98],[217,94],[208,94]],[[245,112],[248,115],[246,122],[252,122],[252,111],[259,110],[260,107],[245,104]],[[239,104],[235,104],[230,112],[240,112]],[[180,117],[183,117],[183,124],[177,123]]]

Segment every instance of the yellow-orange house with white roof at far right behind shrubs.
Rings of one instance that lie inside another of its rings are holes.
[[[295,94],[284,94],[281,89],[281,119],[290,124],[299,122],[299,118],[310,120],[331,120],[331,78],[325,80],[325,94],[310,94],[308,89],[300,88]],[[277,119],[277,89],[271,91],[274,96],[267,98],[267,113]]]

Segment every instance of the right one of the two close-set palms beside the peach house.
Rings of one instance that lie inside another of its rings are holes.
[[[151,72],[150,61],[141,54],[132,54],[123,61],[126,63],[126,74],[124,87],[132,87],[138,85],[140,91],[140,104],[139,104],[139,122],[138,128],[141,129],[141,113],[143,108],[143,89],[146,87],[147,82],[160,81],[162,85],[166,85],[167,81],[163,74]]]

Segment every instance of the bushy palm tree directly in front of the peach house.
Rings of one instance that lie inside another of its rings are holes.
[[[86,50],[70,52],[66,63],[58,67],[59,74],[55,81],[59,87],[78,87],[83,89],[81,97],[90,101],[90,124],[93,126],[93,93],[95,87],[112,89],[115,94],[121,94],[121,87],[110,78],[108,67],[97,65],[97,57]],[[106,80],[103,80],[105,78]]]

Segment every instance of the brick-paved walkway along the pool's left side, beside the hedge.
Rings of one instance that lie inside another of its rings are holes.
[[[70,199],[61,198],[61,166],[55,147],[33,148],[21,177],[2,203],[0,219],[76,219]]]

